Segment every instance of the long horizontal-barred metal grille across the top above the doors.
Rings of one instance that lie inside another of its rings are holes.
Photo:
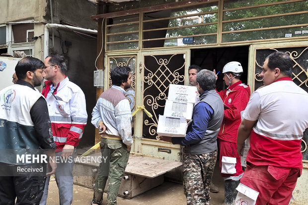
[[[183,0],[101,15],[107,52],[308,37],[308,0]]]

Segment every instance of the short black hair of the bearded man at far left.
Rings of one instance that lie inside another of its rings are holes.
[[[44,68],[44,63],[33,57],[26,57],[21,59],[16,67],[15,67],[15,72],[16,76],[20,80],[24,80],[26,78],[26,73],[27,71],[31,71],[35,73],[36,69],[43,69]]]

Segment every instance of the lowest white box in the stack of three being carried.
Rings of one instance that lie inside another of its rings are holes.
[[[166,137],[185,137],[188,124],[185,118],[159,115],[157,135]]]

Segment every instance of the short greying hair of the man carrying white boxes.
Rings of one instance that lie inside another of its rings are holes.
[[[202,69],[197,74],[197,82],[200,87],[206,90],[214,90],[216,88],[216,76],[213,71],[208,69]]]

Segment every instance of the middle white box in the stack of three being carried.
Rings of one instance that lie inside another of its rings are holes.
[[[166,100],[163,115],[186,118],[186,120],[191,120],[193,109],[194,109],[193,103],[184,103],[184,102]]]

